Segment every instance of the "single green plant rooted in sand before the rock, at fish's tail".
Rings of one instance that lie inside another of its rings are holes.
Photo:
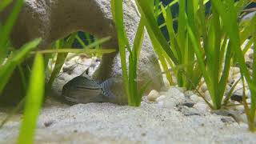
[[[128,96],[129,106],[140,106],[142,94],[150,83],[146,83],[145,86],[141,87],[141,90],[138,90],[137,64],[144,39],[144,22],[142,19],[139,22],[138,30],[134,38],[134,46],[131,49],[123,22],[122,2],[122,0],[111,0],[112,14],[118,31],[118,48],[121,56],[123,85],[126,90],[126,95]],[[126,66],[126,50],[129,52],[128,68]]]

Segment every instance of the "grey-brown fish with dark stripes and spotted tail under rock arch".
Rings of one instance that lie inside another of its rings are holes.
[[[98,82],[89,76],[78,76],[67,82],[62,89],[62,95],[69,102],[111,102],[116,95],[111,91],[114,85],[114,78],[105,82]]]

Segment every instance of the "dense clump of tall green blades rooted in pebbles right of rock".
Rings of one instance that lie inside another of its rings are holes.
[[[152,6],[154,2],[155,8]],[[177,2],[179,14],[176,18],[178,20],[176,32],[173,27],[175,19],[170,9]],[[205,11],[207,2],[213,5],[210,14],[206,14]],[[238,16],[242,15],[241,11],[250,1],[179,0],[171,2],[166,7],[159,1],[137,0],[136,3],[163,69],[168,71],[167,63],[173,70],[181,66],[181,69],[174,73],[178,78],[178,86],[193,89],[203,77],[212,99],[212,102],[206,101],[207,104],[212,109],[221,109],[230,66],[234,60],[239,63],[242,75],[250,86],[251,94],[255,96],[256,82],[254,77],[250,78],[243,58],[243,54],[254,43],[255,18],[246,26],[238,26]],[[161,10],[158,10],[158,6]],[[158,14],[162,14],[165,19],[165,23],[160,26],[157,22]],[[162,26],[166,26],[170,42],[167,42],[161,33]],[[246,39],[250,42],[244,50],[241,50],[240,47]],[[255,70],[253,74],[256,74]],[[166,77],[172,84],[170,74],[166,74]],[[251,98],[250,113],[247,113],[250,127],[253,127],[255,118],[254,96]],[[229,98],[227,97],[226,101]]]

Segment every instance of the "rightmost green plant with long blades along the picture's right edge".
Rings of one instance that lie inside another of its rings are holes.
[[[244,106],[246,110],[246,115],[248,119],[249,129],[251,131],[255,131],[255,112],[256,112],[256,63],[255,63],[255,46],[254,46],[254,64],[253,64],[253,72],[252,76],[250,76],[250,71],[246,67],[246,62],[244,55],[241,50],[241,44],[245,38],[252,38],[255,44],[255,34],[256,34],[256,15],[254,18],[251,19],[250,23],[252,26],[247,26],[243,30],[244,33],[240,34],[240,30],[238,27],[238,14],[241,12],[242,8],[248,4],[250,1],[238,1],[234,2],[232,0],[226,0],[224,2],[215,0],[211,1],[213,4],[214,9],[218,12],[221,16],[223,21],[223,27],[226,31],[226,34],[230,37],[230,43],[232,43],[231,49],[234,50],[234,57],[236,58],[237,62],[239,63],[239,67],[241,70],[242,77],[245,78],[251,93],[251,104],[250,109],[247,105],[246,101],[244,100]],[[244,98],[245,99],[245,98]]]

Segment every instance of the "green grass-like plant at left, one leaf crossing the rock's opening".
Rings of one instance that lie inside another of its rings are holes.
[[[0,12],[9,6],[11,0],[3,0],[0,2]],[[10,42],[10,33],[14,26],[15,20],[18,18],[18,13],[22,8],[23,0],[17,0],[14,2],[13,10],[10,12],[6,22],[0,23],[0,95],[4,90],[6,84],[10,81],[14,70],[19,70],[22,77],[22,90],[26,94],[26,97],[19,102],[18,106],[10,112],[10,114],[1,122],[0,128],[9,120],[9,118],[22,110],[24,106],[24,118],[20,134],[18,137],[18,143],[33,143],[34,129],[36,128],[36,122],[39,111],[42,106],[43,98],[45,97],[45,87],[50,90],[56,75],[59,73],[63,62],[66,59],[67,53],[75,54],[108,54],[112,53],[114,49],[101,50],[101,49],[90,49],[93,47],[100,46],[103,42],[110,40],[109,37],[98,39],[97,41],[90,42],[90,45],[84,46],[83,49],[71,49],[74,43],[74,38],[77,34],[71,34],[68,38],[59,39],[54,42],[53,48],[50,50],[36,50],[39,43],[42,41],[41,38],[34,39],[31,42],[27,42],[20,48],[14,48]],[[45,58],[42,57],[45,55]],[[35,55],[35,57],[34,57]],[[25,62],[26,58],[34,57],[34,65],[29,70],[29,74],[25,73],[22,63]],[[54,70],[51,71],[50,80],[45,86],[45,68],[48,65],[50,58],[57,57],[57,61],[54,66]],[[28,75],[30,79],[28,81]]]

